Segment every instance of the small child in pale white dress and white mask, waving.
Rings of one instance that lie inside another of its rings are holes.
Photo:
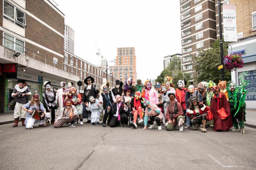
[[[86,110],[90,110],[92,113],[91,125],[100,125],[100,116],[102,107],[98,99],[93,96],[89,97],[90,103],[86,102]]]

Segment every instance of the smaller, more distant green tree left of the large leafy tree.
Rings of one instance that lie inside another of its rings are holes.
[[[171,76],[173,78],[172,83],[175,86],[175,88],[178,87],[177,82],[178,80],[190,80],[190,74],[188,73],[182,73],[181,70],[181,60],[175,55],[172,57],[170,64],[165,68],[159,76],[157,76],[157,79],[155,82],[159,82],[161,84],[164,84],[164,78],[165,76]]]

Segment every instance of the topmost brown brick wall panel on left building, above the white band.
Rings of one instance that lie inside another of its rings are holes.
[[[26,10],[64,35],[64,17],[45,1],[26,0]]]

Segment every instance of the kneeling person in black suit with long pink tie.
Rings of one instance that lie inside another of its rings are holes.
[[[122,102],[121,96],[116,96],[116,102],[114,102],[110,108],[110,123],[111,128],[117,127],[121,122],[121,127],[124,127],[128,123],[128,107]]]

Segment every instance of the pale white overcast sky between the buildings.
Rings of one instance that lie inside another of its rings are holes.
[[[145,81],[161,73],[164,56],[181,53],[179,0],[54,1],[75,31],[74,54],[96,66],[98,48],[112,61],[118,47],[135,47],[137,79]]]

